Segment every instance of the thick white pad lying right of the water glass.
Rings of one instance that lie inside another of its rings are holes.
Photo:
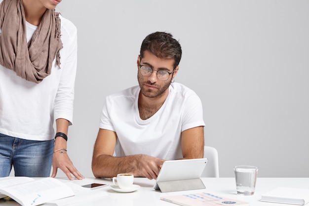
[[[309,189],[278,187],[262,195],[261,201],[304,206],[309,202]]]

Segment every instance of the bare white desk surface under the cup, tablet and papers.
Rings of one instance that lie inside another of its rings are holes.
[[[208,192],[215,195],[221,195],[226,198],[231,198],[239,201],[249,202],[250,206],[287,206],[286,204],[274,204],[260,202],[261,194],[268,192],[276,187],[297,187],[309,189],[309,178],[258,178],[256,183],[256,191],[253,196],[240,196],[236,194],[234,178],[202,178],[206,189],[191,190],[172,193],[160,193],[153,189],[154,180],[147,178],[135,178],[134,184],[140,185],[141,188],[132,193],[117,193],[110,187],[99,189],[102,193],[107,193],[108,196],[91,201],[86,206],[176,206],[160,200],[160,196],[189,194],[198,192]],[[67,181],[67,180],[63,180]],[[69,181],[69,180],[68,180]],[[88,183],[105,183],[113,184],[109,179],[85,178],[83,180],[73,180],[78,185]],[[0,200],[0,206],[19,206],[14,201]],[[85,206],[79,204],[75,206]]]

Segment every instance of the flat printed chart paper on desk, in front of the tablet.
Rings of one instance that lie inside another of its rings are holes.
[[[161,200],[174,203],[181,206],[238,206],[249,205],[249,203],[241,202],[225,198],[222,196],[213,195],[210,193],[193,193],[175,196],[162,196]]]

